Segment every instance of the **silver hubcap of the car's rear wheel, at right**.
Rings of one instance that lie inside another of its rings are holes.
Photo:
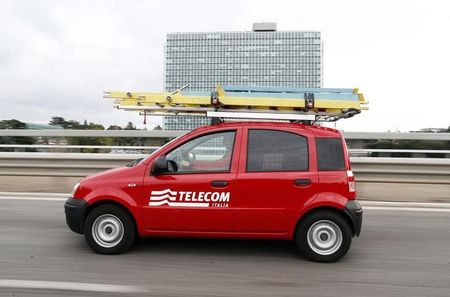
[[[327,256],[335,253],[342,245],[342,231],[329,220],[315,222],[307,234],[309,247],[317,254]]]

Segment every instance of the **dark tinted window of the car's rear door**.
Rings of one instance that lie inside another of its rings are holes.
[[[308,170],[307,138],[275,130],[249,130],[247,172]]]

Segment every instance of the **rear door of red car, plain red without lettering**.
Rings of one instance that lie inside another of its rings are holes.
[[[286,233],[317,191],[313,135],[299,129],[248,127],[243,131],[235,200],[235,230]]]

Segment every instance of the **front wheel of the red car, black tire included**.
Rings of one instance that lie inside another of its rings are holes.
[[[84,237],[99,254],[121,254],[132,246],[136,238],[134,220],[119,206],[100,205],[86,217]]]

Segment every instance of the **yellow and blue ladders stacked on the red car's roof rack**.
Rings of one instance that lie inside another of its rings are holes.
[[[216,85],[213,92],[105,91],[114,107],[147,115],[298,121],[313,124],[350,118],[367,110],[358,89],[242,87]],[[216,121],[217,122],[217,121]]]

